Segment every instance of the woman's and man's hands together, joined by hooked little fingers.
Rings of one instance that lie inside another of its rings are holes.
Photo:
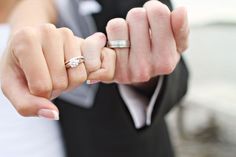
[[[158,1],[131,9],[126,19],[107,24],[107,38],[95,33],[81,39],[68,28],[52,24],[25,27],[12,34],[2,58],[1,85],[23,116],[58,119],[50,99],[81,85],[116,82],[148,83],[170,74],[188,46],[189,26],[183,7],[170,12]],[[129,40],[131,48],[106,48],[107,40]],[[85,62],[66,69],[65,61],[84,56]]]

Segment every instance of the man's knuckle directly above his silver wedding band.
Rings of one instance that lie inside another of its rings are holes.
[[[107,32],[120,32],[123,30],[124,27],[127,27],[125,19],[115,18],[107,23],[106,29]]]

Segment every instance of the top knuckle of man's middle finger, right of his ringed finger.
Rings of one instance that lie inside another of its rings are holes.
[[[140,21],[146,18],[146,11],[144,8],[133,8],[131,9],[128,14],[126,19],[128,21]]]

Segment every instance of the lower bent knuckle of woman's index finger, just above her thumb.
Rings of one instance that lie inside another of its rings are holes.
[[[35,81],[29,85],[30,91],[33,95],[50,98],[52,92],[52,85],[46,81]]]

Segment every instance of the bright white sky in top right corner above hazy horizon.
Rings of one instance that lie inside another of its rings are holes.
[[[236,23],[236,0],[172,0],[186,6],[191,25]]]

